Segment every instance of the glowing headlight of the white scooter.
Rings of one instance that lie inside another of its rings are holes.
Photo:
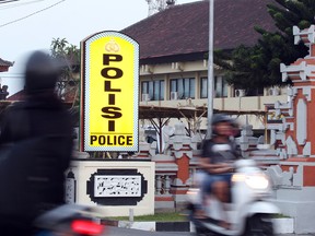
[[[253,189],[267,189],[269,187],[269,179],[262,173],[252,175],[234,174],[232,181],[245,181],[245,184]]]

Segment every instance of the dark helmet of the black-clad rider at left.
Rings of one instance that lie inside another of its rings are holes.
[[[58,79],[57,64],[44,51],[33,52],[25,67],[25,91],[28,94],[54,91]]]

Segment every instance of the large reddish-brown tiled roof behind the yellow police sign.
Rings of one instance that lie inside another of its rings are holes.
[[[214,48],[233,49],[254,45],[259,38],[254,26],[276,31],[267,12],[273,0],[214,1]],[[140,59],[205,54],[209,49],[209,1],[178,4],[144,19],[121,33],[140,44]]]

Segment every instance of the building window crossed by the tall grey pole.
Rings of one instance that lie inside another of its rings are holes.
[[[214,97],[228,97],[228,83],[223,76],[214,76]],[[200,98],[208,97],[208,78],[201,78]]]

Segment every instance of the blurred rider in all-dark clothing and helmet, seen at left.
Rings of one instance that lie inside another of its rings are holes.
[[[44,51],[33,52],[25,67],[25,101],[10,105],[2,115],[1,235],[32,235],[33,220],[63,203],[72,126],[55,94],[57,79],[51,57]],[[11,146],[9,151],[4,145]]]

